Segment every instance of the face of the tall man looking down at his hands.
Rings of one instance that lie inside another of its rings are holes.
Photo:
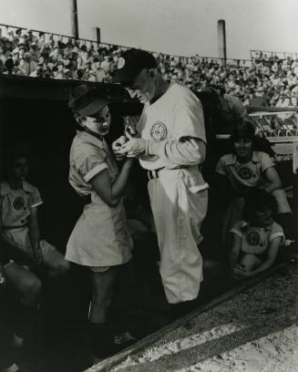
[[[138,98],[141,103],[146,103],[154,98],[155,83],[150,76],[149,69],[143,68],[138,77],[126,89],[131,98]]]

